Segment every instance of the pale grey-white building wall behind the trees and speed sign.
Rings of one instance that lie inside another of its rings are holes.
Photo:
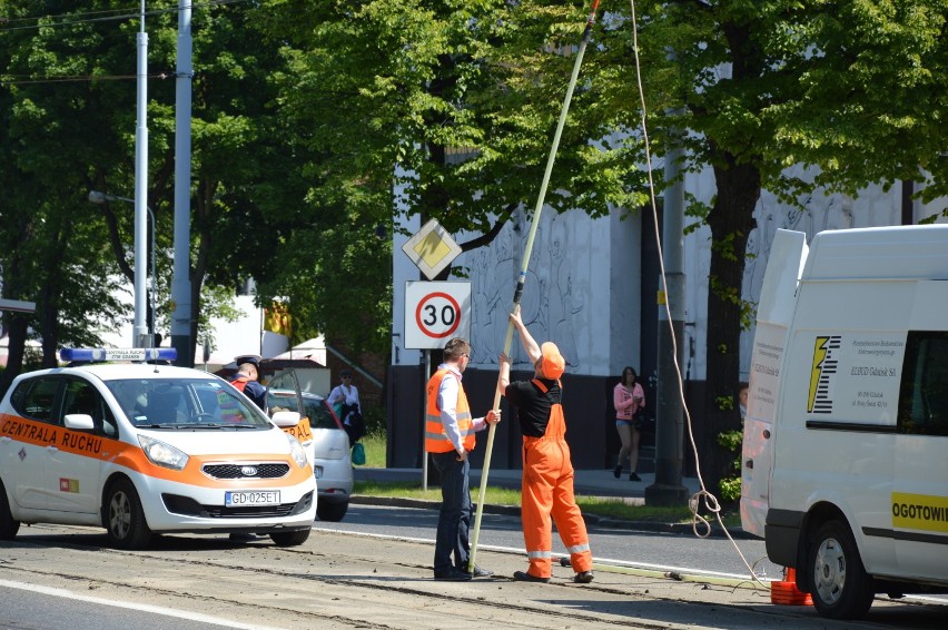
[[[710,204],[715,194],[713,174],[705,170],[689,174],[685,189],[698,200]],[[898,225],[901,220],[899,186],[889,190],[869,187],[856,198],[814,193],[801,199],[803,210],[781,204],[763,191],[754,216],[758,227],[748,240],[743,294],[756,302],[767,267],[770,243],[778,228],[807,234],[808,240],[820,230],[848,227]],[[944,199],[925,206],[915,204],[915,220],[940,210]],[[653,316],[654,304],[641,304],[641,235],[654,229],[651,222],[642,225],[633,216],[622,220],[624,210],[591,219],[585,213],[571,210],[557,215],[545,209],[533,244],[526,284],[522,298],[524,322],[537,341],[551,339],[560,345],[570,372],[585,375],[615,375],[623,365],[639,365],[643,343],[639,331],[643,316]],[[685,224],[690,223],[687,218]],[[411,234],[421,227],[417,217],[403,220]],[[454,266],[463,267],[472,285],[472,367],[492,367],[503,348],[506,313],[513,305],[513,292],[522,266],[522,255],[530,223],[523,214],[503,227],[490,247],[462,254]],[[470,235],[452,235],[464,243]],[[402,252],[406,236],[395,238],[393,363],[417,365],[419,351],[406,351],[404,338],[404,294],[406,280],[425,280]],[[704,380],[707,371],[705,336],[708,329],[708,277],[710,274],[710,230],[704,227],[684,238],[685,338],[689,350],[690,377]],[[645,315],[643,315],[645,314]],[[741,377],[748,375],[753,331],[741,337]],[[514,358],[522,356],[514,338]],[[520,363],[520,367],[525,364]],[[684,370],[685,366],[682,366]]]

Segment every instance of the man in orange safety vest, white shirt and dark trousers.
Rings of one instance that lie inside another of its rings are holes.
[[[435,540],[435,580],[464,581],[486,578],[493,571],[474,567],[467,571],[471,544],[471,464],[467,454],[474,450],[474,433],[501,421],[500,410],[472,419],[461,375],[471,361],[471,344],[455,337],[444,346],[442,363],[427,385],[425,410],[425,451],[441,473],[441,512]],[[452,555],[454,560],[452,562]]]

